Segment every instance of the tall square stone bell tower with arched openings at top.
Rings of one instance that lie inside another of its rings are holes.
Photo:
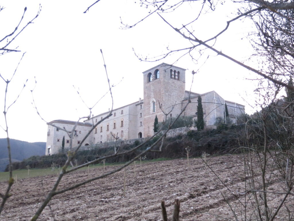
[[[145,137],[153,135],[156,115],[158,122],[164,120],[162,110],[165,113],[172,110],[172,116],[181,112],[181,103],[185,96],[185,71],[181,67],[162,63],[143,72]]]

